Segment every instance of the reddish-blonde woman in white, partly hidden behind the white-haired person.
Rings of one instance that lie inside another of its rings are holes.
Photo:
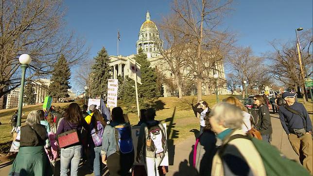
[[[235,105],[242,110],[243,113],[242,130],[244,132],[248,132],[251,129],[251,114],[248,113],[248,109],[244,107],[242,103],[240,103],[238,98],[233,96],[227,97],[224,102],[229,103],[231,105]]]

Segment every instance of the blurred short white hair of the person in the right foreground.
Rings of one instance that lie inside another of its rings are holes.
[[[223,122],[222,125],[226,128],[241,128],[243,124],[242,110],[226,102],[218,103],[213,106],[209,116],[217,123]]]

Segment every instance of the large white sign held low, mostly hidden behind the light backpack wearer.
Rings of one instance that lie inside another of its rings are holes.
[[[166,134],[166,123],[162,123],[164,128],[165,128],[165,137],[167,138],[167,134]],[[137,162],[136,160],[136,156],[137,156],[137,145],[138,145],[138,138],[139,138],[139,130],[140,130],[140,126],[133,126],[132,127],[132,140],[133,140],[133,145],[134,145],[134,152],[135,152],[135,162],[134,165],[144,165],[144,159],[141,158],[141,160],[139,160],[139,162]],[[166,139],[167,142],[167,139]],[[169,154],[168,151],[165,153],[165,156],[160,164],[160,166],[168,166],[169,165]]]

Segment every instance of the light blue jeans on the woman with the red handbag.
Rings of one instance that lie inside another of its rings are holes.
[[[82,158],[82,145],[75,145],[61,149],[61,173],[60,176],[67,176],[70,165],[70,176],[77,176],[78,166]]]

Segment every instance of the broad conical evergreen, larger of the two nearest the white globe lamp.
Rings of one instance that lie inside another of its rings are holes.
[[[63,54],[61,54],[57,63],[54,65],[54,70],[49,86],[49,94],[53,98],[69,97],[68,89],[70,87],[70,66]]]

